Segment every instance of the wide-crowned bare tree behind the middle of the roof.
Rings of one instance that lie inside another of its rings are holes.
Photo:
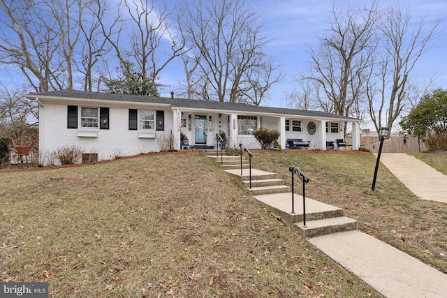
[[[206,95],[203,99],[235,103],[251,88],[248,100],[259,104],[276,80],[270,71],[277,66],[269,66],[272,61],[264,59],[263,50],[270,40],[263,36],[263,24],[254,10],[242,0],[191,0],[184,4],[179,27],[189,47],[200,52],[197,77],[200,93]],[[263,82],[254,84],[256,75],[262,75]]]

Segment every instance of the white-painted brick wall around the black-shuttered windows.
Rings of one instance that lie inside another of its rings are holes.
[[[106,107],[106,106],[104,106]],[[39,155],[43,165],[58,164],[50,154],[58,147],[75,145],[82,153],[97,153],[98,161],[113,159],[116,156],[133,156],[141,153],[160,151],[157,138],[138,137],[138,131],[129,131],[129,108],[109,107],[109,129],[98,129],[97,137],[78,137],[80,130],[80,111],[78,129],[67,128],[67,105],[43,103],[40,112]],[[140,106],[140,109],[142,107]],[[145,110],[163,110],[160,107],[143,107]],[[164,131],[156,135],[170,133],[173,128],[173,112],[164,110]]]

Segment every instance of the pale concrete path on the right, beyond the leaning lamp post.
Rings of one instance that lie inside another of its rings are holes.
[[[446,175],[405,153],[381,154],[380,161],[421,200],[447,203]]]

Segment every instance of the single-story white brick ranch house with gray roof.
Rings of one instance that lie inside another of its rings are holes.
[[[303,147],[325,150],[326,144],[344,139],[347,122],[352,126],[352,149],[360,146],[361,120],[327,112],[73,90],[26,97],[39,105],[43,165],[50,163],[45,156],[61,147],[75,145],[83,157],[93,155],[95,161],[102,161],[160,151],[160,139],[167,136],[174,139],[173,149],[218,147],[221,132],[227,147],[244,144],[258,149],[252,132],[260,127],[277,129],[282,149],[293,147],[295,140]],[[182,147],[181,132],[187,139]]]

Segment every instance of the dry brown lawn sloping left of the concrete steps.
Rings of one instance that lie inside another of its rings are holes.
[[[0,172],[0,198],[0,280],[51,297],[381,297],[196,153]]]

